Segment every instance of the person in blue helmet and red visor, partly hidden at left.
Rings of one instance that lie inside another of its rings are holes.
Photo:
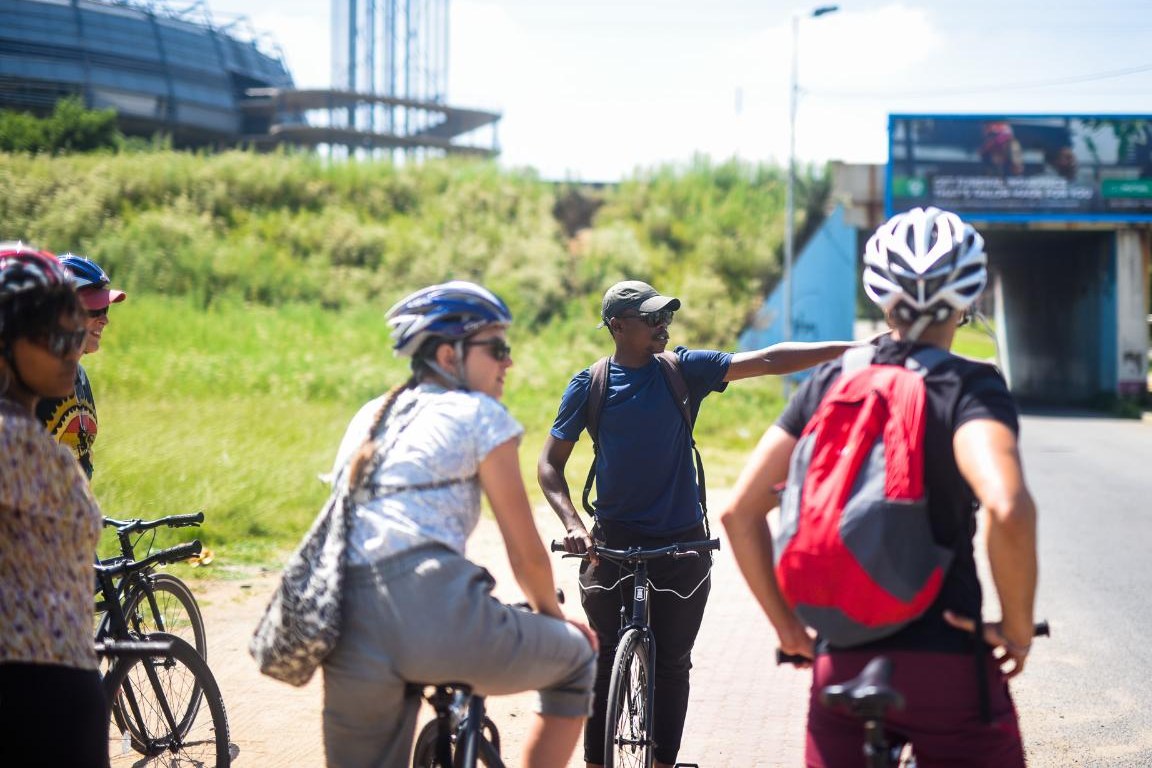
[[[71,273],[73,283],[86,314],[84,353],[99,351],[104,329],[108,326],[108,307],[128,296],[109,288],[108,275],[100,265],[83,256],[66,253],[60,264]],[[67,397],[45,397],[36,406],[36,416],[48,434],[68,446],[84,474],[92,478],[92,443],[96,441],[96,397],[84,366],[76,372],[76,386]]]

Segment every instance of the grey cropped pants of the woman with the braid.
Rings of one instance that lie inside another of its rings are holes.
[[[505,606],[493,584],[440,546],[346,571],[340,640],[324,661],[329,768],[408,765],[419,699],[406,695],[407,683],[468,683],[484,695],[537,690],[540,714],[589,714],[588,639],[567,622]]]

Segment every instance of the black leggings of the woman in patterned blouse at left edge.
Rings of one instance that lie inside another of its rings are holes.
[[[0,766],[107,768],[108,708],[100,675],[0,663]]]

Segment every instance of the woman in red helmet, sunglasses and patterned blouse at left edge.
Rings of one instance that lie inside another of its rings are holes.
[[[74,386],[86,330],[51,253],[0,244],[0,765],[108,765],[92,645],[100,510],[36,418]]]

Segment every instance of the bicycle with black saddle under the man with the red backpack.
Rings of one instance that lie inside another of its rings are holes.
[[[1037,637],[1051,634],[1047,622],[1038,622]],[[776,651],[776,663],[805,663],[811,660]],[[864,765],[866,768],[916,768],[914,745],[887,730],[892,710],[904,708],[903,694],[892,686],[893,662],[884,655],[872,659],[859,675],[843,683],[825,685],[820,704],[841,709],[864,723]]]

